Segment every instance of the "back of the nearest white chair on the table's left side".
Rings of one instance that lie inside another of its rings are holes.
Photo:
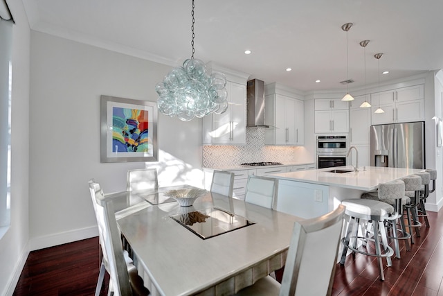
[[[116,216],[114,214],[114,204],[111,200],[106,200],[103,191],[100,189],[95,193],[96,217],[98,228],[102,233],[102,252],[107,259],[110,277],[110,289],[114,295],[132,295],[132,288],[129,282],[129,274],[125,257],[123,256],[123,245],[118,231]]]

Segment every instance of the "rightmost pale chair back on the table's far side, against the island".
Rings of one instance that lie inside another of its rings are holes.
[[[256,175],[248,176],[244,201],[268,209],[277,206],[278,179]]]

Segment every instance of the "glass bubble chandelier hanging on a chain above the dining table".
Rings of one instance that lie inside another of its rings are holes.
[[[159,94],[157,107],[165,115],[177,116],[181,121],[201,118],[210,113],[221,114],[228,109],[226,77],[223,73],[211,72],[206,64],[194,58],[194,0],[192,0],[192,55],[183,66],[174,67],[156,84]]]

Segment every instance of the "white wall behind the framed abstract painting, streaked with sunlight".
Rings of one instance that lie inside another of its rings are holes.
[[[30,250],[98,235],[88,180],[123,191],[126,171],[100,164],[100,95],[156,101],[171,67],[33,31],[30,78]],[[202,186],[201,120],[159,113],[159,183]]]

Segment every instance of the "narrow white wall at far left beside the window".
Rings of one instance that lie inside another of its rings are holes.
[[[8,1],[12,28],[11,223],[0,239],[0,295],[12,295],[28,257],[30,28],[21,1]]]

